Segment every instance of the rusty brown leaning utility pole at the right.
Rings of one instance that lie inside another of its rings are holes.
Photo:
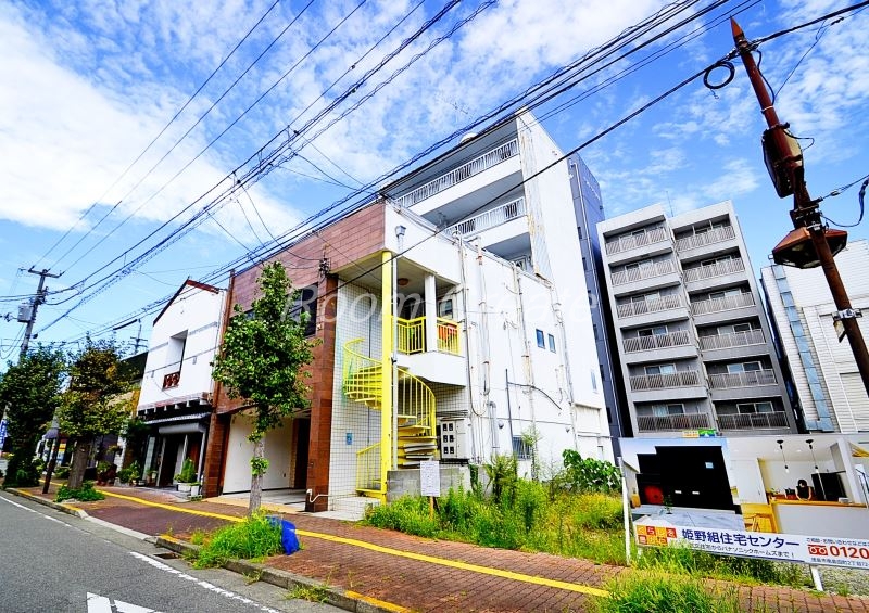
[[[772,250],[773,259],[777,264],[797,268],[820,266],[823,269],[833,302],[839,309],[835,321],[841,322],[844,333],[848,337],[854,360],[857,362],[857,370],[860,372],[866,393],[869,394],[869,352],[866,349],[866,342],[857,323],[859,314],[851,306],[851,299],[842,283],[842,277],[839,274],[839,268],[833,259],[833,251],[830,247],[832,243],[836,253],[842,251],[846,244],[847,233],[841,230],[828,230],[823,227],[821,214],[818,210],[820,201],[811,199],[803,179],[803,152],[796,139],[788,132],[789,125],[782,124],[776,114],[769,90],[752,55],[755,46],[745,38],[742,28],[733,18],[730,20],[730,26],[733,31],[733,41],[736,43],[736,51],[748,74],[748,80],[752,82],[757,101],[760,103],[760,112],[769,126],[764,132],[763,142],[770,177],[779,197],[791,194],[794,196],[794,208],[791,210],[794,230]]]

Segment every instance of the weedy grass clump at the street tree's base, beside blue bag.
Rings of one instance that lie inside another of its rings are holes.
[[[232,559],[267,558],[284,550],[280,545],[280,525],[272,524],[262,513],[237,524],[223,526],[211,535],[197,531],[191,542],[201,546],[193,562],[196,569],[219,566]]]

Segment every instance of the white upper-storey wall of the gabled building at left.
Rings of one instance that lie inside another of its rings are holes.
[[[212,392],[212,367],[226,292],[186,285],[154,322],[142,378],[139,407]],[[184,361],[171,358],[171,341],[187,334]],[[163,389],[163,376],[180,370],[176,387]]]

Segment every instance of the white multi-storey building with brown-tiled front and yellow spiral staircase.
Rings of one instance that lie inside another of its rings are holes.
[[[613,460],[568,166],[539,173],[562,155],[520,114],[274,256],[320,344],[311,407],[266,436],[264,489],[318,511],[385,499],[427,459],[513,454],[528,476],[564,449]],[[243,491],[250,416],[219,386],[215,407],[206,484]]]

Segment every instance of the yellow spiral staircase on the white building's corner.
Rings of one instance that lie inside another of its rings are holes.
[[[383,362],[357,350],[364,339],[344,344],[343,393],[348,398],[374,410],[391,406],[392,389],[383,383]],[[398,369],[398,468],[419,467],[438,456],[434,432],[434,394],[406,369]],[[383,496],[386,474],[381,460],[390,458],[389,439],[381,439],[356,454],[356,489],[361,494]]]

